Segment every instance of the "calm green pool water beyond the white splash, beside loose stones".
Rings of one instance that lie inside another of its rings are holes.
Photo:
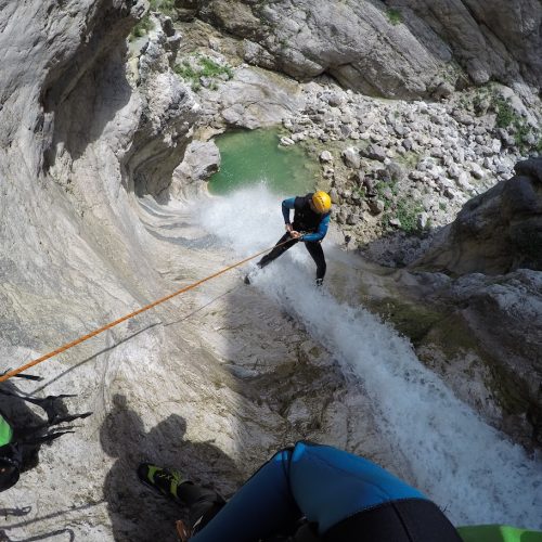
[[[215,139],[221,156],[220,171],[208,183],[211,194],[224,195],[263,183],[280,195],[296,195],[314,189],[319,171],[298,145],[279,146],[276,129],[243,130]]]

